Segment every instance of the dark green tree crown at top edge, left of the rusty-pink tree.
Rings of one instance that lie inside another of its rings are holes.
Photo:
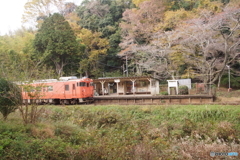
[[[118,30],[122,13],[131,7],[132,3],[128,0],[91,0],[84,1],[76,12],[83,28],[102,32],[102,37],[109,38]]]

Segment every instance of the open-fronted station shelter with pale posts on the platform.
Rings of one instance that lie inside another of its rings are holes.
[[[159,94],[159,81],[151,76],[104,77],[94,79],[95,96]]]

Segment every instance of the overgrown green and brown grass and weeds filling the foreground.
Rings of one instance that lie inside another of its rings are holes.
[[[210,159],[211,151],[240,153],[240,106],[43,107],[35,125],[24,125],[18,111],[7,121],[1,117],[1,159]]]

